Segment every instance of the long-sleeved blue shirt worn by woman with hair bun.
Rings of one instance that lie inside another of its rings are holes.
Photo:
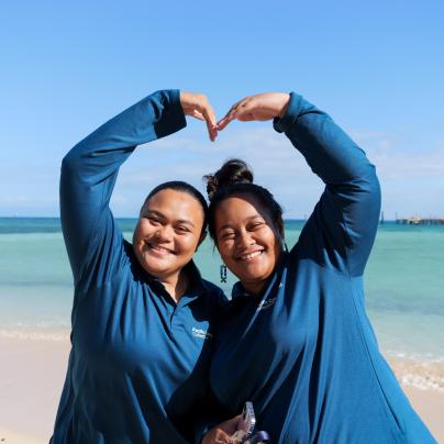
[[[232,415],[253,401],[273,443],[434,442],[365,312],[363,273],[380,209],[374,166],[296,93],[274,123],[325,189],[266,291],[253,297],[234,287],[211,365],[217,399]]]

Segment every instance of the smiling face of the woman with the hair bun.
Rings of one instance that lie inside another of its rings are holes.
[[[258,293],[277,264],[278,229],[251,195],[222,200],[214,214],[219,253],[246,291]]]

